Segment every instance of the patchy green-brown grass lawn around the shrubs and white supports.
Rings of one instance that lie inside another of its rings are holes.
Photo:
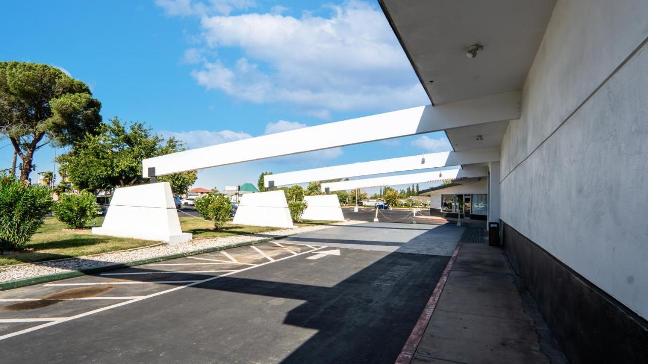
[[[94,225],[100,226],[103,217],[98,217]],[[322,225],[330,222],[302,222],[295,225],[311,226]],[[91,224],[93,225],[93,224]],[[222,229],[214,230],[214,225],[201,218],[181,217],[180,226],[185,233],[192,233],[196,238],[220,238],[222,236],[242,235],[251,233],[262,233],[265,231],[281,230],[278,227],[259,227],[234,225],[227,223]],[[145,245],[156,244],[150,240],[137,240],[132,238],[115,238],[113,236],[102,236],[90,234],[89,230],[82,231],[64,231],[65,224],[55,218],[45,218],[45,223],[32,236],[32,240],[27,243],[27,249],[32,249],[32,253],[17,253],[0,255],[0,266],[9,264],[19,264],[25,262],[40,262],[42,260],[51,260],[59,258],[69,258],[71,256],[84,256],[122,249],[131,249],[134,247],[143,247]]]

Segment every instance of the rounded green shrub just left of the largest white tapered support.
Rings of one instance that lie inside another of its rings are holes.
[[[98,210],[97,199],[90,192],[62,194],[54,203],[54,216],[70,229],[86,227],[97,216]]]

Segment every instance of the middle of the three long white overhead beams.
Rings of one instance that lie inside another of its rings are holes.
[[[425,163],[421,163],[423,157]],[[438,152],[410,155],[409,157],[381,159],[379,161],[350,163],[348,165],[269,174],[268,176],[264,176],[264,181],[266,187],[270,187],[268,184],[269,181],[275,181],[275,186],[284,186],[312,181],[324,181],[326,179],[470,165],[474,163],[488,163],[499,160],[499,147],[466,150],[463,152]]]

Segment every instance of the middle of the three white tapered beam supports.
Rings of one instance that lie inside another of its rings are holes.
[[[238,203],[233,222],[241,225],[295,227],[283,190],[244,194]]]

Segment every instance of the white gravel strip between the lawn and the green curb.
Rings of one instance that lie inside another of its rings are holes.
[[[224,238],[204,238],[175,245],[155,244],[147,247],[113,251],[110,253],[2,266],[0,267],[0,290],[8,290],[10,288],[17,288],[40,282],[76,277],[78,275],[91,274],[98,271],[118,269],[120,267],[136,266],[148,262],[178,258],[180,256],[196,255],[208,253],[209,251],[251,245],[273,240],[274,238],[307,233],[308,231],[329,229],[334,226],[354,225],[357,223],[364,222],[358,220],[347,220],[345,222],[331,223],[329,225],[305,226],[297,227],[297,229],[283,229],[268,231],[266,233],[233,235]]]

